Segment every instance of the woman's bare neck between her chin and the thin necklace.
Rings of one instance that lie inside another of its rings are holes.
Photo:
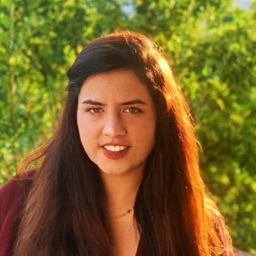
[[[140,186],[143,168],[121,174],[100,171],[105,189],[104,209],[108,215],[118,215],[131,209]]]

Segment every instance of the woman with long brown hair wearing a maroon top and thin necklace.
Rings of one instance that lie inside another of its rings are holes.
[[[1,189],[0,255],[233,255],[157,46],[129,31],[97,38],[68,78],[53,137]]]

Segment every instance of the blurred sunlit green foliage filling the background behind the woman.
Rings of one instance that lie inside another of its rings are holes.
[[[0,1],[0,184],[50,138],[66,71],[115,29],[158,43],[196,121],[201,169],[234,245],[256,252],[256,1]]]

